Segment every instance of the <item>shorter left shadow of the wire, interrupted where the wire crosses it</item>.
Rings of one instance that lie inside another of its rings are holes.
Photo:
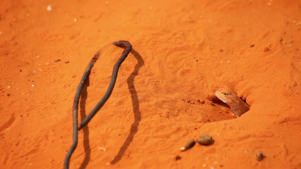
[[[80,100],[80,118],[85,119],[86,117],[86,100],[88,97],[87,88],[90,86],[90,78],[87,78],[84,84],[84,88],[82,90],[81,94],[81,100]],[[82,128],[83,131],[83,143],[84,143],[84,150],[85,150],[85,158],[84,161],[82,161],[82,164],[80,165],[79,169],[85,169],[90,161],[90,155],[91,155],[91,149],[90,149],[90,141],[89,141],[89,128],[88,125],[86,125],[84,128]]]

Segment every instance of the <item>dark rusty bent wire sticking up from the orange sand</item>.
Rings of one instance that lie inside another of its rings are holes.
[[[77,122],[79,98],[80,98],[80,95],[82,93],[82,88],[84,86],[85,80],[90,75],[91,69],[94,66],[95,62],[98,60],[98,57],[100,55],[101,50],[99,50],[94,55],[94,57],[91,59],[91,61],[88,64],[84,74],[82,75],[82,79],[80,80],[79,85],[76,89],[75,97],[74,97],[74,100],[73,100],[73,110],[72,110],[72,114],[73,114],[73,143],[72,143],[70,149],[68,150],[68,152],[66,154],[65,162],[64,162],[64,169],[69,169],[69,163],[70,163],[71,155],[74,152],[74,150],[76,149],[76,146],[77,146],[77,143],[78,143],[78,131],[80,129],[82,129],[85,125],[87,125],[88,122],[98,112],[98,110],[104,105],[104,103],[106,103],[106,101],[108,100],[108,98],[112,94],[113,88],[115,86],[119,67],[121,66],[121,63],[123,63],[123,61],[126,59],[126,57],[129,55],[129,53],[132,50],[132,45],[128,41],[116,41],[116,42],[113,42],[112,44],[114,44],[116,46],[119,46],[119,47],[123,47],[125,49],[123,50],[121,56],[119,57],[119,59],[117,60],[117,62],[115,63],[115,65],[113,67],[111,81],[110,81],[110,84],[109,84],[109,87],[108,87],[106,93],[104,94],[104,97],[102,97],[102,99],[97,103],[97,105],[87,115],[87,117],[84,120],[82,120],[79,127],[78,127],[78,122]]]

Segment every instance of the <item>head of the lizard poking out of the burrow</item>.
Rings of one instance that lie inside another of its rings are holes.
[[[219,90],[215,92],[215,95],[222,100],[222,102],[228,104],[229,106],[235,104],[237,97],[237,93],[227,86],[219,88]]]

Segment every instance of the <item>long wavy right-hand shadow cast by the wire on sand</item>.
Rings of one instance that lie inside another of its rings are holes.
[[[121,160],[123,154],[125,153],[126,149],[129,147],[130,143],[132,143],[133,138],[135,134],[138,132],[138,126],[141,121],[141,113],[140,113],[140,108],[139,108],[139,101],[138,101],[138,96],[137,96],[137,91],[135,89],[134,85],[134,79],[138,75],[139,69],[144,65],[144,60],[141,57],[141,55],[132,49],[131,53],[135,56],[135,58],[138,61],[138,64],[135,65],[134,71],[129,75],[127,79],[127,84],[129,91],[131,93],[131,98],[132,98],[132,105],[133,105],[133,112],[134,112],[134,122],[131,125],[131,130],[130,134],[124,141],[123,145],[120,147],[119,152],[117,155],[114,157],[114,159],[111,161],[111,164],[116,164],[118,161]]]

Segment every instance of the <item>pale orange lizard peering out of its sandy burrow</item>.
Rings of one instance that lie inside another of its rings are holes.
[[[215,92],[215,95],[219,98],[219,100],[222,100],[222,102],[230,106],[232,113],[236,117],[240,117],[242,114],[250,110],[250,106],[241,100],[235,91],[227,86],[219,88],[219,90]]]

